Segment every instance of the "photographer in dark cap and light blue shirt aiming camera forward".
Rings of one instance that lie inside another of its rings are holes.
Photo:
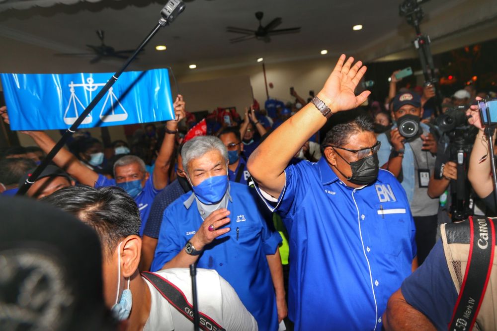
[[[435,166],[437,142],[430,127],[420,123],[421,97],[405,92],[395,96],[392,118],[396,125],[379,134],[378,158],[401,182],[409,200],[416,226],[418,262],[421,264],[435,244],[438,199],[428,196],[428,183]]]

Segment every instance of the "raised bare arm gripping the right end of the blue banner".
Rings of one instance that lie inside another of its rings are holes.
[[[173,155],[174,155],[174,142],[176,133],[178,130],[178,123],[185,118],[185,102],[183,101],[183,96],[178,94],[176,101],[173,104],[174,114],[176,118],[174,120],[167,121],[166,123],[166,134],[164,135],[164,140],[161,145],[161,150],[157,155],[155,168],[154,168],[154,188],[156,190],[162,190],[166,187],[169,182],[169,169],[171,167]]]

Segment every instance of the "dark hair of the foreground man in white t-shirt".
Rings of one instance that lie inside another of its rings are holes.
[[[140,211],[135,200],[116,186],[62,188],[42,201],[74,214],[99,235],[110,256],[119,242],[140,230]]]

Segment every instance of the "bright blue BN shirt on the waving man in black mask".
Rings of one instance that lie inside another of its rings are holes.
[[[388,298],[416,255],[404,189],[385,170],[371,185],[347,187],[324,157],[285,174],[278,201],[264,200],[289,232],[295,330],[381,330]]]

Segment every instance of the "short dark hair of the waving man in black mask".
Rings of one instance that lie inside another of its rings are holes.
[[[352,134],[366,131],[373,132],[373,121],[370,116],[361,115],[352,121],[338,123],[326,133],[326,138],[321,144],[321,151],[323,152],[325,147],[330,145],[341,147],[348,142]]]

